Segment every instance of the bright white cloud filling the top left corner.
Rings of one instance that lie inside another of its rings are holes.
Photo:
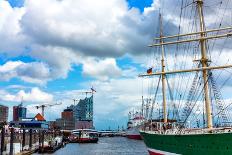
[[[23,53],[29,43],[19,23],[24,13],[24,8],[12,8],[8,1],[0,1],[0,53],[11,57]]]

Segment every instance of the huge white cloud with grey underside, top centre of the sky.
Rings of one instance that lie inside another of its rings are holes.
[[[26,1],[25,8],[23,33],[43,46],[71,48],[87,56],[120,56],[143,52],[139,45],[151,37],[143,26],[146,16],[129,10],[124,0]]]

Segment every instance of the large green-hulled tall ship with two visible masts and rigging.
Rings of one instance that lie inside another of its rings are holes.
[[[223,22],[226,14],[219,23],[212,22],[231,3],[180,2],[178,33],[164,35],[160,13],[158,37],[149,45],[161,58],[156,62],[161,65],[161,71],[149,69],[139,75],[149,80],[157,77],[150,111],[152,119],[143,124],[140,134],[150,155],[232,154],[231,87],[226,87],[231,82],[232,65],[222,54],[231,55],[228,46],[232,26],[228,24],[229,19]],[[217,9],[205,11],[210,6]],[[207,13],[211,16],[205,20]]]

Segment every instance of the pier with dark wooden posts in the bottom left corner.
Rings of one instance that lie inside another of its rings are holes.
[[[65,145],[62,132],[32,129],[16,131],[13,127],[10,133],[4,130],[2,128],[1,131],[1,154],[52,153]]]

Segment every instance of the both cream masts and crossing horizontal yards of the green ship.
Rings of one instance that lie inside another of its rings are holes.
[[[163,29],[162,29],[162,18],[160,15],[160,38],[154,38],[155,40],[159,40],[160,43],[155,43],[149,45],[149,47],[160,46],[162,48],[162,71],[155,72],[151,74],[140,74],[139,77],[147,77],[147,76],[154,76],[154,75],[162,75],[162,91],[163,91],[163,116],[164,116],[164,123],[167,122],[167,112],[166,112],[166,97],[165,97],[165,78],[166,74],[174,74],[174,73],[188,73],[188,72],[196,72],[202,71],[203,81],[204,81],[204,100],[205,100],[205,109],[206,109],[206,117],[207,117],[207,128],[211,129],[213,127],[212,122],[212,105],[210,101],[209,95],[209,70],[217,70],[217,69],[225,69],[225,68],[232,68],[232,64],[230,65],[223,65],[223,66],[208,66],[208,57],[206,51],[206,41],[211,39],[220,39],[220,38],[229,38],[232,37],[232,26],[219,28],[219,29],[211,29],[206,30],[205,23],[204,23],[204,15],[203,15],[203,0],[195,0],[196,7],[199,15],[199,24],[200,24],[200,32],[192,32],[186,34],[178,34],[172,36],[163,36]],[[226,31],[227,32],[224,32]],[[229,31],[230,30],[230,31]],[[217,35],[209,35],[212,32],[224,32],[223,34]],[[193,37],[181,40],[174,40],[174,41],[167,41],[166,39],[175,39],[177,37]],[[184,44],[189,42],[199,42],[200,49],[201,49],[201,59],[200,62],[202,66],[200,68],[191,68],[186,70],[174,70],[174,71],[165,71],[165,64],[164,64],[164,46],[172,45],[172,44]]]

